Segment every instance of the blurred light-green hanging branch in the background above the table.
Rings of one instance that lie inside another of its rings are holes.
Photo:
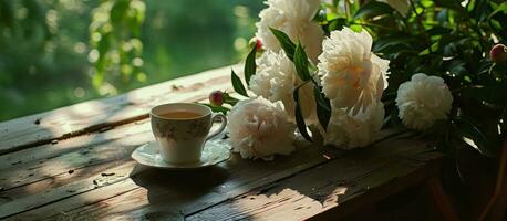
[[[143,43],[141,27],[145,4],[142,0],[104,0],[93,13],[90,39],[93,50],[90,60],[94,65],[93,85],[102,86],[105,73],[120,73],[128,82],[134,75],[146,78],[142,72]],[[101,94],[111,91],[100,91]]]

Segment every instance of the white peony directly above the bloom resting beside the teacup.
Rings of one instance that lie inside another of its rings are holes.
[[[296,102],[293,90],[302,83],[294,64],[283,51],[278,53],[268,50],[257,60],[257,74],[250,78],[250,90],[258,96],[271,102],[281,101],[287,114],[294,118]],[[303,117],[309,124],[314,123],[315,102],[312,84],[306,84],[299,90],[299,98]]]

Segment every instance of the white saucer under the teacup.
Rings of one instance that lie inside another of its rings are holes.
[[[192,164],[169,164],[161,156],[158,144],[153,141],[137,147],[131,155],[141,165],[159,169],[196,169],[217,165],[230,158],[230,147],[226,140],[210,139],[206,141],[200,161]]]

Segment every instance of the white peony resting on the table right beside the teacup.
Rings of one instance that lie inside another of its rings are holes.
[[[262,97],[240,101],[230,110],[229,143],[242,158],[272,159],[275,154],[289,155],[294,150],[293,125],[280,102]]]

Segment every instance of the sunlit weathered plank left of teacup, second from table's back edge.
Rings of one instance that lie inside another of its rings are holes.
[[[218,125],[215,125],[218,127]],[[0,218],[31,210],[53,201],[122,182],[132,175],[136,162],[131,160],[133,149],[153,141],[149,122],[125,125],[104,134],[95,134],[102,141],[85,146],[90,139],[81,140],[84,149],[50,157],[45,161],[12,166],[0,173]],[[59,145],[68,148],[64,140]],[[32,149],[31,149],[32,150]],[[72,150],[72,148],[71,148]],[[83,154],[83,150],[85,154]],[[33,165],[39,165],[32,168]],[[34,171],[35,170],[35,171]],[[27,176],[28,172],[32,172]],[[131,188],[137,188],[130,182]]]

